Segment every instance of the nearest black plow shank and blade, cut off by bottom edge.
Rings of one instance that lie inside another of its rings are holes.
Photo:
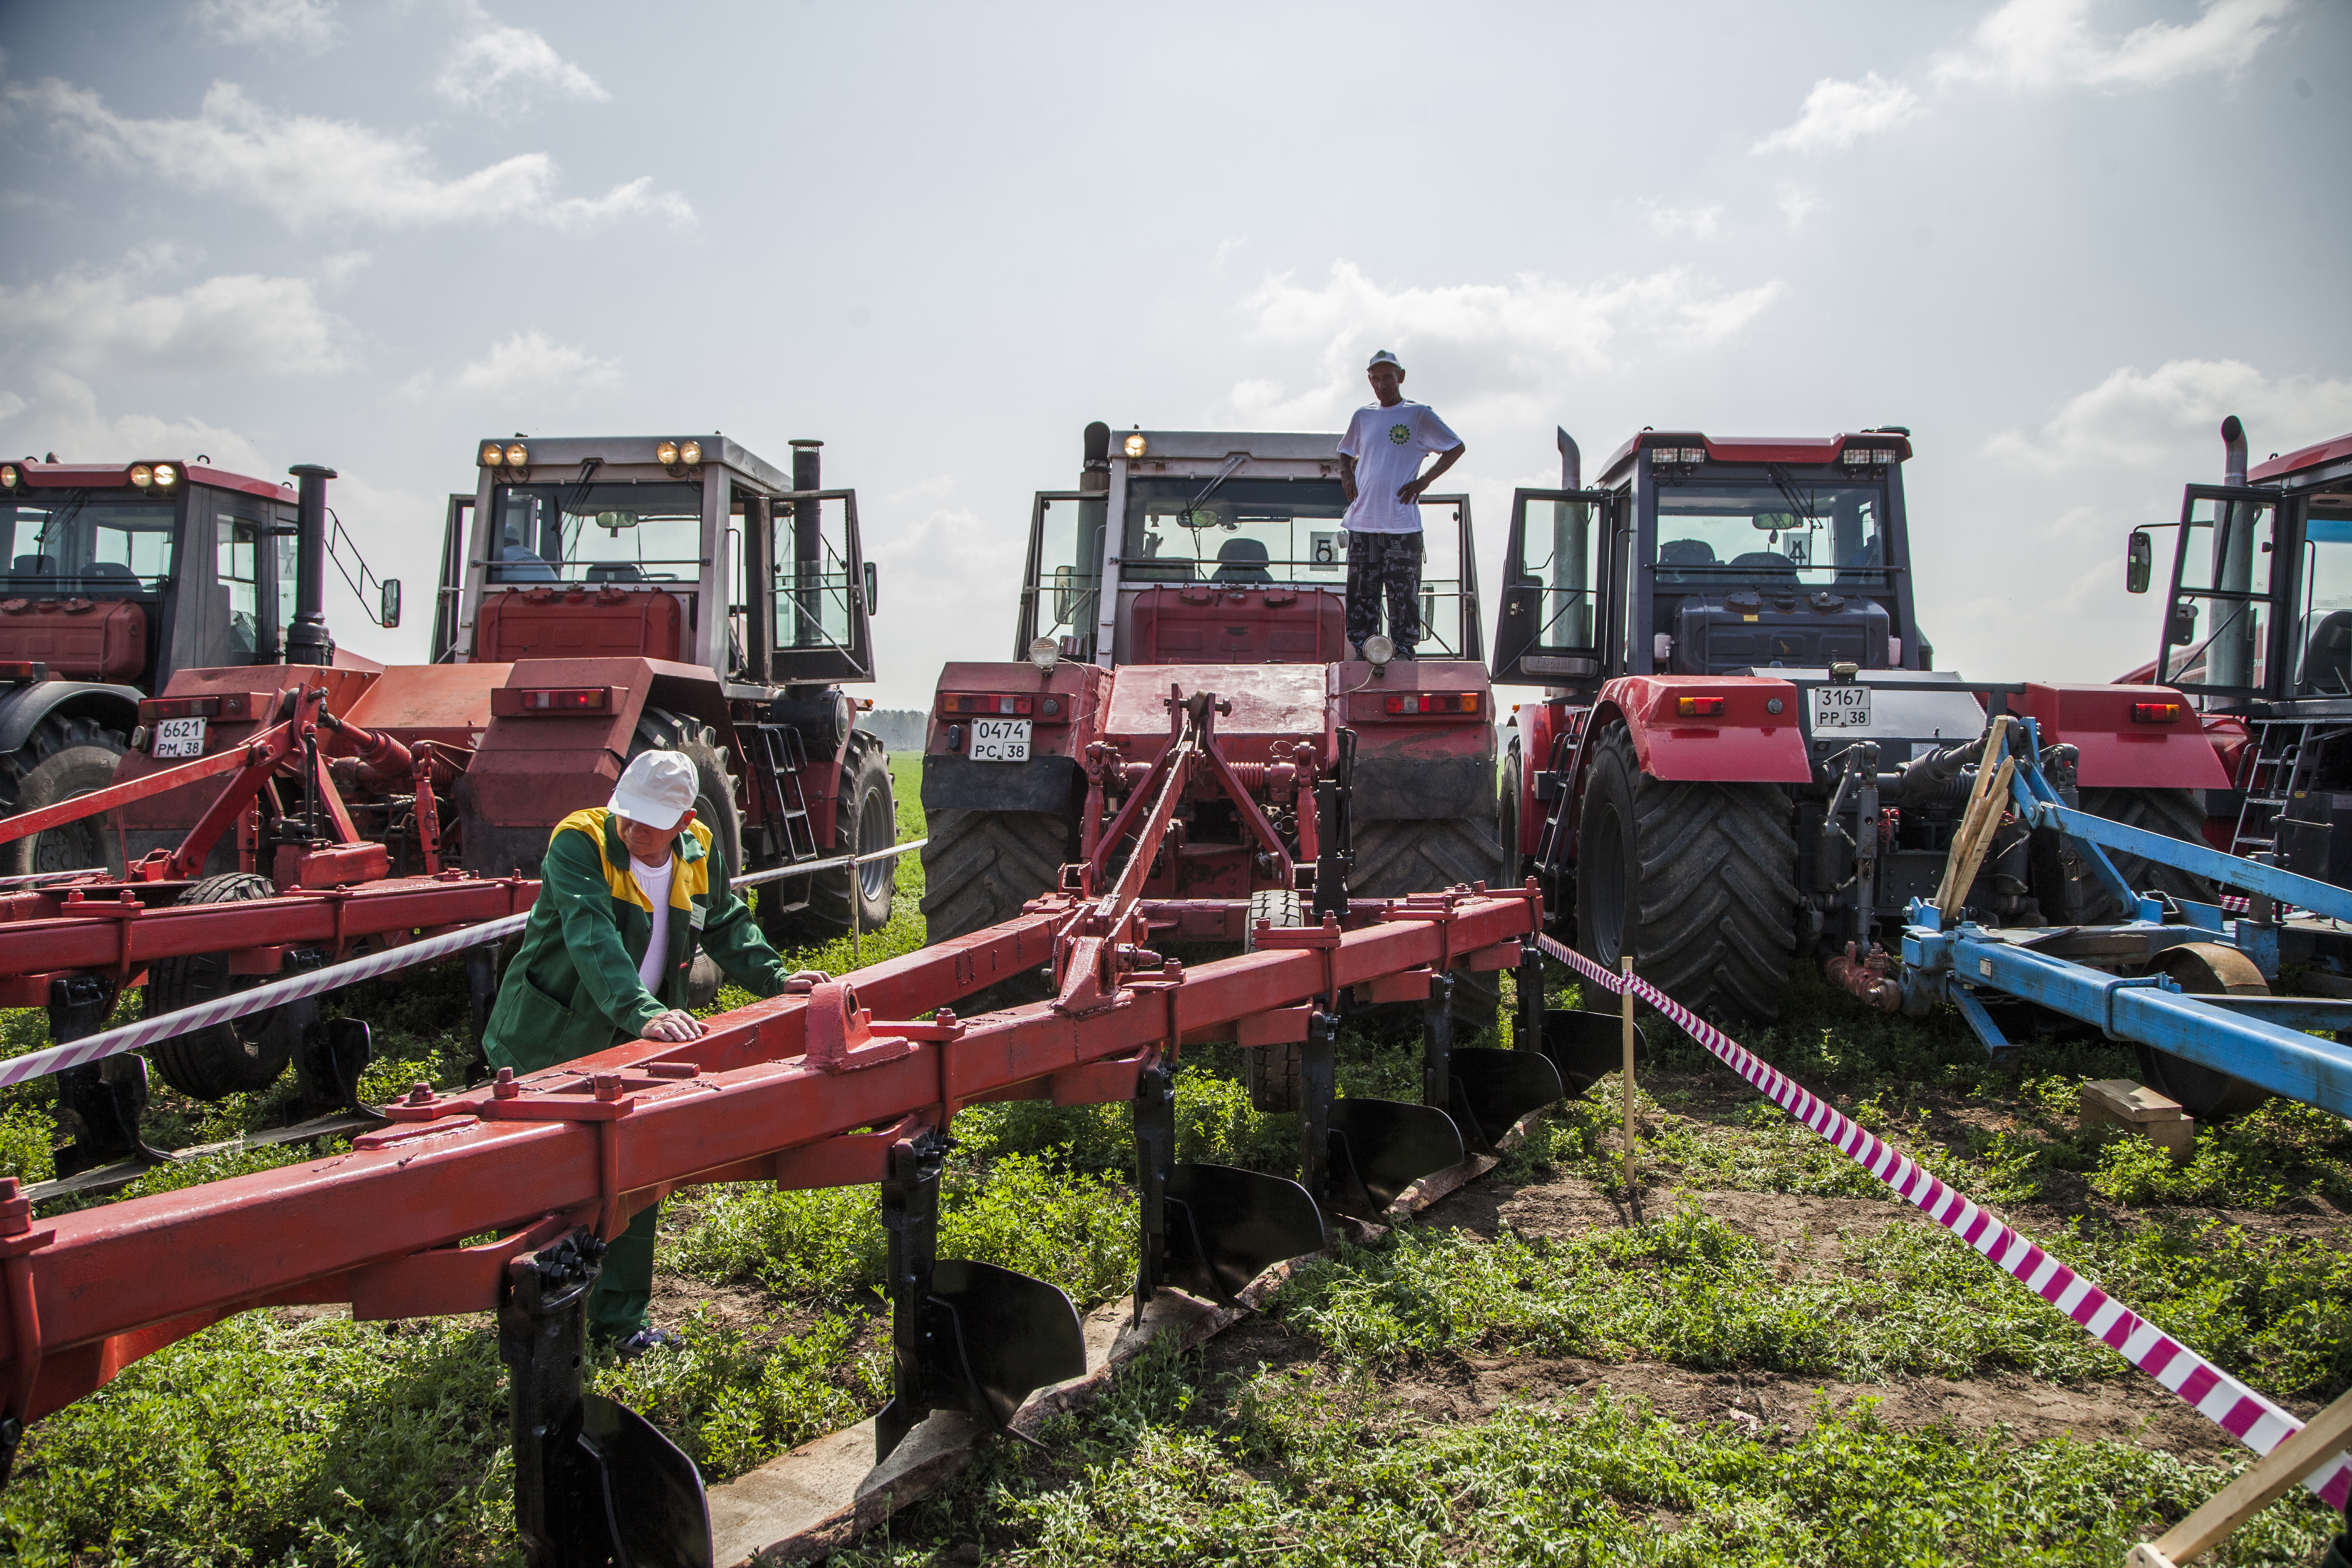
[[[576,1229],[506,1265],[499,1359],[524,1559],[532,1568],[710,1568],[710,1502],[694,1460],[581,1385],[602,1258],[604,1244]]]

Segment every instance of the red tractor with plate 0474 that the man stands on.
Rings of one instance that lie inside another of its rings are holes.
[[[1423,651],[1350,658],[1336,435],[1087,425],[1075,491],[1044,491],[1007,663],[950,663],[924,745],[931,940],[1002,922],[1122,860],[1183,698],[1214,693],[1214,776],[1183,780],[1150,898],[1249,898],[1296,924],[1494,882],[1494,691],[1465,496],[1423,496]],[[1317,788],[1345,790],[1343,844]],[[1174,936],[1242,940],[1204,905]],[[1494,976],[1456,992],[1494,1018]],[[1251,1053],[1256,1063],[1265,1053]],[[1261,1086],[1263,1091],[1263,1086]],[[1272,1091],[1265,1091],[1272,1093]]]

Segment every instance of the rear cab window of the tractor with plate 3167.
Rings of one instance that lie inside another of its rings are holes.
[[[1877,484],[1686,482],[1658,489],[1658,585],[1877,588],[1886,578]]]

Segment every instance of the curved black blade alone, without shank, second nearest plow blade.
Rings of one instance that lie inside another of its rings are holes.
[[[917,1399],[891,1399],[875,1418],[877,1458],[889,1458],[931,1410],[967,1410],[1011,1434],[1033,1392],[1087,1375],[1077,1307],[1042,1279],[993,1262],[941,1258],[924,1298]]]

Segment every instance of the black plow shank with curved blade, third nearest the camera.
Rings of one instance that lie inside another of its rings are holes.
[[[1322,1208],[1298,1182],[1176,1164],[1176,1088],[1167,1067],[1136,1074],[1136,1199],[1143,1220],[1136,1324],[1162,1286],[1240,1307],[1242,1288],[1268,1267],[1324,1248]]]

